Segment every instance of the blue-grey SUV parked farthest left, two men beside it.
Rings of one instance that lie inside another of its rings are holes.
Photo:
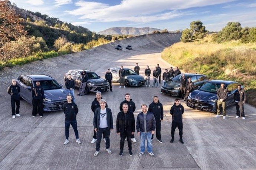
[[[20,97],[32,105],[32,88],[36,86],[37,81],[40,82],[40,86],[45,91],[43,110],[47,112],[62,110],[63,105],[67,102],[66,96],[68,92],[54,78],[48,75],[20,75],[17,78],[17,85],[20,86]]]

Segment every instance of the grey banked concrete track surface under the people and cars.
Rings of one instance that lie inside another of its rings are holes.
[[[135,87],[119,88],[113,84],[113,92],[102,93],[108,102],[114,118],[114,130],[110,135],[110,149],[105,150],[102,140],[100,153],[94,157],[95,143],[93,136],[93,113],[91,102],[95,94],[77,96],[79,107],[77,115],[79,138],[75,140],[73,129],[70,128],[69,143],[65,141],[64,114],[62,111],[44,113],[43,118],[32,118],[32,106],[21,100],[20,117],[12,119],[10,96],[6,93],[12,78],[20,74],[47,74],[64,84],[63,75],[69,69],[91,69],[105,76],[107,68],[124,65],[134,68],[138,62],[144,75],[146,65],[151,72],[157,64],[162,71],[170,68],[170,64],[161,59],[161,51],[165,47],[179,41],[181,34],[149,34],[127,38],[125,40],[102,45],[91,50],[68,54],[57,58],[36,61],[31,64],[4,68],[0,72],[0,169],[1,170],[69,170],[69,169],[182,169],[182,170],[255,170],[256,169],[256,109],[245,105],[246,119],[235,118],[235,107],[227,109],[227,119],[214,118],[213,113],[201,112],[185,107],[183,115],[183,140],[178,139],[175,131],[174,143],[171,139],[170,108],[174,97],[160,93],[160,88]],[[117,44],[132,45],[132,50],[115,50]],[[151,79],[152,84],[152,79]],[[75,93],[78,89],[75,90]],[[129,156],[125,143],[124,154],[119,157],[120,137],[116,135],[115,120],[119,112],[119,104],[125,93],[131,93],[136,104],[135,119],[141,112],[140,105],[149,105],[153,96],[159,96],[164,106],[164,120],[161,126],[163,143],[152,141],[155,157],[144,154],[139,157],[140,139],[132,143],[133,156]]]

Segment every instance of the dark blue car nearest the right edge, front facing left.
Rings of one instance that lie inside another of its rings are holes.
[[[229,90],[226,107],[233,105],[234,92],[239,83],[235,81],[211,80],[190,93],[187,106],[197,110],[217,113],[217,90],[220,88],[221,83],[224,83],[225,87]]]

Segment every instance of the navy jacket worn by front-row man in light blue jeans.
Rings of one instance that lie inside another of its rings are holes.
[[[143,112],[139,113],[137,116],[137,121],[136,121],[136,130],[137,132],[150,132],[152,130],[155,130],[155,117],[154,114],[151,112],[147,112],[146,114],[146,125],[147,129],[144,129],[144,119],[143,119]]]

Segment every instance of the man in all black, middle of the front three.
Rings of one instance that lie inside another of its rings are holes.
[[[129,155],[132,156],[132,141],[131,135],[135,132],[135,119],[131,112],[128,112],[128,104],[122,105],[122,111],[117,114],[116,117],[116,133],[120,135],[120,153],[119,156],[123,155],[124,140],[127,138]]]

